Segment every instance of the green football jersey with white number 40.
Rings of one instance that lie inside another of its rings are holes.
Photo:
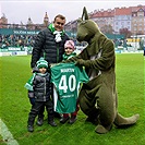
[[[55,84],[55,111],[71,113],[76,109],[76,99],[81,83],[88,82],[88,76],[83,68],[74,63],[59,63],[51,67],[51,82]]]

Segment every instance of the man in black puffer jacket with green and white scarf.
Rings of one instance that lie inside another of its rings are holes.
[[[44,57],[49,64],[62,61],[62,55],[64,53],[64,43],[65,40],[69,40],[68,35],[63,31],[65,17],[61,14],[58,14],[55,17],[53,23],[51,23],[46,29],[41,31],[37,35],[32,53],[32,69],[35,68],[36,62],[40,57]],[[37,120],[38,125],[43,124],[44,110],[45,108],[43,107]],[[58,116],[57,112],[55,114]]]

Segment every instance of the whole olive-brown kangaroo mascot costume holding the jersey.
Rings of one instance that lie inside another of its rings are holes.
[[[85,67],[89,76],[89,82],[83,84],[78,96],[81,109],[88,117],[86,120],[97,125],[97,133],[109,132],[112,124],[123,128],[136,123],[140,114],[124,118],[118,112],[114,45],[88,19],[85,8],[78,22],[76,38],[78,41],[87,41],[88,46],[68,62],[73,61],[78,67]]]

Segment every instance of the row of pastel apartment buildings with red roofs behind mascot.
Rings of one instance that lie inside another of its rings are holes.
[[[105,25],[111,25],[116,34],[122,28],[128,28],[134,35],[145,34],[145,5],[95,10],[89,13],[89,17],[100,29]]]

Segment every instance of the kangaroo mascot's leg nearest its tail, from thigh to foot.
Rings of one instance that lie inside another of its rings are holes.
[[[96,126],[95,132],[104,134],[111,130],[114,118],[117,116],[117,95],[102,84],[98,90],[97,105],[100,110],[99,124]]]

